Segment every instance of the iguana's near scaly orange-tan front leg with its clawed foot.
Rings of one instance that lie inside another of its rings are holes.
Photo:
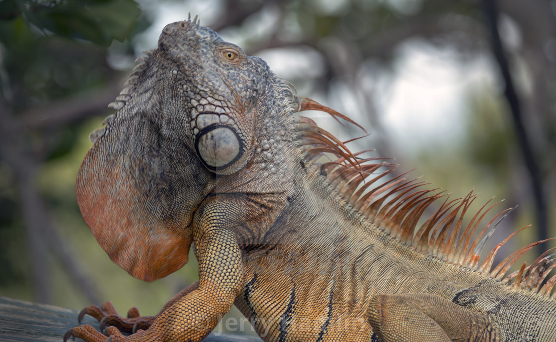
[[[199,228],[193,229],[199,259],[198,288],[162,311],[147,330],[138,330],[125,338],[116,329],[110,329],[112,342],[201,341],[230,310],[243,275],[239,245],[226,224],[230,223],[227,220],[230,212],[218,210],[217,205],[207,205],[200,212],[194,219]],[[75,336],[87,342],[104,341],[98,331],[88,327],[69,330],[65,339]]]

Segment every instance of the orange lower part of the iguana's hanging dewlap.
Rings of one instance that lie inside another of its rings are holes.
[[[138,279],[153,281],[187,263],[191,240],[183,225],[150,205],[122,163],[99,166],[93,147],[81,165],[77,202],[85,223],[116,264]]]

